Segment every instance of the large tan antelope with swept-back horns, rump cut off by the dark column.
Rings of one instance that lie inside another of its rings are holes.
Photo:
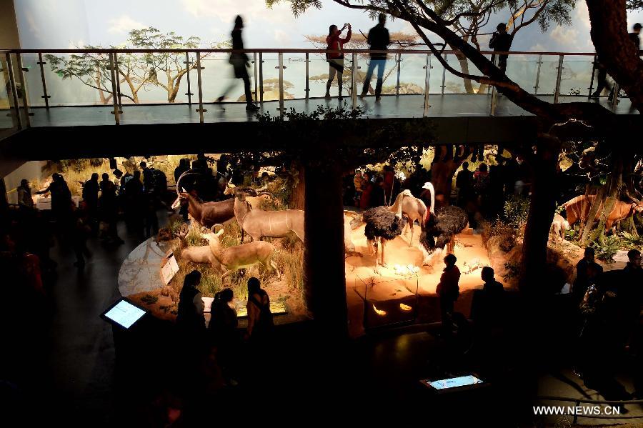
[[[304,211],[301,209],[252,209],[246,201],[246,194],[261,196],[269,192],[257,192],[249,188],[237,189],[231,183],[228,183],[225,194],[234,194],[234,217],[241,228],[241,242],[244,242],[244,232],[255,241],[262,237],[283,238],[294,232],[301,242],[304,242]]]

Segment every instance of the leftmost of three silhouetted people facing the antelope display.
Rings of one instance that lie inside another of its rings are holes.
[[[204,303],[201,292],[196,288],[199,282],[201,272],[197,270],[185,276],[176,313],[176,327],[179,327],[183,334],[195,338],[205,331]]]

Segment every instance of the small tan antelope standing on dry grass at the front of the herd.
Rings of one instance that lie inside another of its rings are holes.
[[[221,226],[219,232],[214,232],[216,226]],[[274,247],[269,242],[254,241],[247,244],[236,245],[235,247],[221,248],[219,237],[223,234],[223,225],[214,225],[209,232],[201,233],[201,237],[209,243],[209,249],[214,257],[219,261],[226,272],[221,276],[221,282],[229,274],[237,269],[251,267],[253,264],[261,263],[266,269],[273,270],[277,278],[281,279],[281,274],[276,268],[276,263],[272,260]]]

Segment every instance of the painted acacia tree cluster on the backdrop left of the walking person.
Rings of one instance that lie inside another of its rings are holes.
[[[201,45],[201,39],[196,36],[184,38],[174,31],[161,33],[154,27],[134,29],[129,31],[127,41],[119,46],[83,46],[79,49],[196,49]],[[220,42],[209,46],[213,49],[229,47],[229,42]],[[208,56],[201,55],[201,59]],[[109,54],[102,52],[86,52],[70,56],[46,55],[54,73],[62,79],[78,79],[86,86],[99,92],[102,104],[111,100],[111,71],[109,69]],[[144,54],[117,54],[119,84],[121,97],[129,99],[134,104],[139,103],[139,91],[153,86],[164,89],[166,99],[173,103],[179,94],[181,79],[190,70],[196,68],[196,61],[184,64],[183,52],[151,52]],[[159,78],[159,76],[161,76]],[[129,94],[123,91],[129,89]]]

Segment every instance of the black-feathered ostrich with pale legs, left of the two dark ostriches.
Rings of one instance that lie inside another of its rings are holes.
[[[410,193],[409,193],[410,194]],[[401,193],[402,198],[406,199],[407,195]],[[402,234],[404,229],[404,220],[402,219],[402,202],[397,204],[397,212],[393,214],[386,206],[376,206],[367,209],[362,214],[362,219],[366,223],[364,234],[366,235],[369,248],[375,254],[375,273],[379,266],[379,243],[382,243],[382,267],[387,267],[384,262],[384,246],[387,241],[395,239]]]

